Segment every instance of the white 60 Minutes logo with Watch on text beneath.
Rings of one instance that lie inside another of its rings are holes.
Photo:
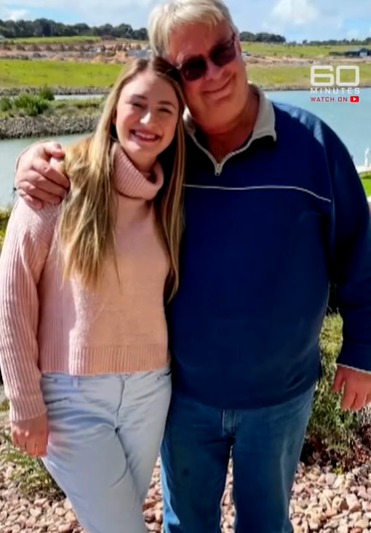
[[[334,70],[335,76],[333,74]],[[344,81],[342,79],[344,71],[352,71],[353,79]],[[358,65],[338,65],[336,67],[332,65],[311,65],[310,92],[316,96],[311,96],[310,99],[314,102],[359,102],[359,82],[360,69]]]

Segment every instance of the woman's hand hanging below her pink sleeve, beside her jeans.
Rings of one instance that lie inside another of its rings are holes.
[[[14,446],[17,446],[22,452],[44,457],[49,437],[46,413],[31,420],[12,422],[11,437]]]

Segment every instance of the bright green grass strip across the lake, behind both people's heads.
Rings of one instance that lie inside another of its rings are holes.
[[[0,87],[108,87],[121,69],[122,65],[100,63],[0,59]],[[309,88],[310,84],[309,66],[251,64],[247,71],[251,81],[264,87]],[[361,84],[371,86],[371,64],[360,65],[360,78]]]

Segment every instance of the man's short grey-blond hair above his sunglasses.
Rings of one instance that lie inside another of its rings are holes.
[[[148,21],[149,44],[154,54],[166,57],[173,30],[201,22],[213,26],[226,21],[237,32],[222,0],[169,0],[156,6]]]

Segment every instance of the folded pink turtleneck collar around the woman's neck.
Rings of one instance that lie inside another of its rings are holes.
[[[164,174],[158,161],[152,169],[150,180],[149,173],[140,172],[119,144],[115,146],[114,173],[118,192],[130,198],[153,200],[164,183]]]

